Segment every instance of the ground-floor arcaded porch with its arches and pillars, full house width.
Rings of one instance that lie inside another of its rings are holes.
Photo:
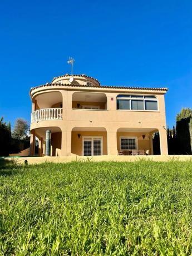
[[[158,131],[120,127],[111,132],[104,127],[73,127],[64,132],[59,127],[43,127],[31,131],[31,156],[46,155],[47,130],[51,132],[50,156],[154,155],[153,138]],[[160,133],[159,145],[160,154],[166,155],[166,132]]]

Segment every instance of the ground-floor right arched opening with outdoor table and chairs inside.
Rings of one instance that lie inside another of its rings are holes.
[[[124,128],[117,130],[117,150],[122,155],[154,155],[153,135],[155,128]]]

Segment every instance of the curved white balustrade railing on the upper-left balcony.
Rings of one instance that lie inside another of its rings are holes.
[[[62,108],[40,109],[31,113],[31,122],[44,120],[62,120]]]

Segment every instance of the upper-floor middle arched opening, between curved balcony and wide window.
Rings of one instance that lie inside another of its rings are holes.
[[[107,97],[105,93],[74,92],[72,95],[72,109],[106,110]]]

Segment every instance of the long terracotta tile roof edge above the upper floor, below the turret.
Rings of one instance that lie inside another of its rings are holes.
[[[93,86],[87,86],[87,85],[71,85],[71,83],[46,83],[45,85],[39,85],[36,87],[32,87],[31,90],[29,91],[30,95],[31,92],[37,88],[40,87],[47,87],[47,86],[70,86],[70,87],[90,87],[90,88],[109,88],[109,89],[130,89],[130,90],[152,90],[152,91],[168,91],[168,88],[152,88],[152,87],[131,87],[131,86],[109,86],[109,85],[104,85],[104,86],[98,86],[98,87],[93,87]]]

